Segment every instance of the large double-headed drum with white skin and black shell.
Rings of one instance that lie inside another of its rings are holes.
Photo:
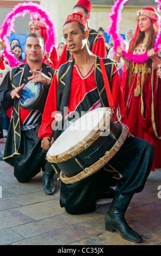
[[[97,108],[61,133],[46,158],[60,168],[61,181],[75,183],[108,163],[121,148],[127,134],[127,127],[113,120],[110,108]]]

